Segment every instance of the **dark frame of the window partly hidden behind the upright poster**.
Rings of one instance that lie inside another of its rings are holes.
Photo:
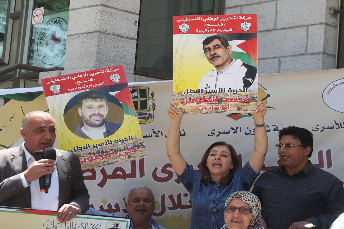
[[[142,50],[142,39],[143,37],[140,36],[140,30],[143,30],[143,23],[141,23],[141,12],[145,12],[145,5],[142,4],[142,2],[145,2],[146,0],[140,0],[140,13],[139,13],[139,23],[138,23],[138,29],[137,29],[137,40],[136,40],[136,53],[135,53],[135,66],[134,66],[134,75],[139,76],[145,76],[145,77],[151,77],[155,79],[162,79],[162,80],[172,80],[173,79],[173,72],[165,72],[165,71],[159,71],[154,70],[146,67],[140,66],[141,63],[141,56],[138,55],[138,53],[141,53]],[[184,15],[183,6],[184,2],[186,0],[175,0],[175,8],[173,15]],[[213,14],[223,14],[225,10],[225,0],[213,0],[214,4],[214,10]],[[172,19],[171,19],[172,20]],[[171,28],[172,30],[172,28]]]

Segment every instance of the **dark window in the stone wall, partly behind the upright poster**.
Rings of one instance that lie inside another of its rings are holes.
[[[221,14],[222,0],[141,0],[134,74],[173,78],[172,18]]]

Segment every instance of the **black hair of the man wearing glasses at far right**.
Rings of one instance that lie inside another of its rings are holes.
[[[312,156],[313,134],[309,130],[296,126],[288,126],[287,128],[283,128],[280,131],[280,133],[278,134],[278,139],[281,140],[283,135],[291,135],[294,136],[294,138],[298,138],[301,141],[301,145],[303,146],[303,148],[310,146],[312,149],[308,154],[308,158]]]

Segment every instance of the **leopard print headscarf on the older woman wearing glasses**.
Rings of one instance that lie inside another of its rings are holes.
[[[250,208],[252,209],[252,217],[247,229],[264,229],[261,226],[259,226],[260,218],[261,218],[261,204],[258,197],[247,191],[234,192],[232,193],[232,195],[228,197],[225,204],[225,208],[227,207],[227,205],[232,199],[236,199],[236,198],[239,198],[242,201],[246,202],[248,206],[250,206]],[[224,217],[225,217],[225,222],[226,222],[225,211],[224,211]],[[225,225],[223,225],[221,229],[228,229],[226,223]]]

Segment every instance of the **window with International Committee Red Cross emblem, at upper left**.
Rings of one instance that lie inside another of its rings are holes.
[[[41,7],[43,22],[32,25],[32,12]],[[68,18],[69,0],[0,0],[0,68],[22,63],[62,69]],[[39,87],[38,77],[17,69],[1,75],[0,88]]]

